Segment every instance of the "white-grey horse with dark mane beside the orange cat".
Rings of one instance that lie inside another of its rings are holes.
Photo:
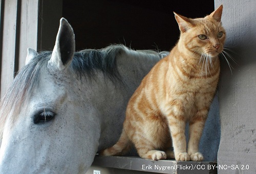
[[[53,51],[28,49],[1,100],[0,173],[86,173],[119,139],[129,98],[168,53],[123,45],[76,52],[61,18]]]

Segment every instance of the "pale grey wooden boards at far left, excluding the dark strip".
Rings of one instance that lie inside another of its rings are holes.
[[[37,7],[38,1],[1,1],[1,97],[24,66],[27,48],[37,48]]]

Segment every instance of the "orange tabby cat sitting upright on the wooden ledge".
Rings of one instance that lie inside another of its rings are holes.
[[[142,80],[127,105],[119,141],[102,155],[124,155],[134,143],[145,159],[203,160],[199,140],[217,88],[218,55],[225,42],[222,8],[196,19],[174,13],[181,32],[177,45]],[[172,142],[174,153],[169,150]]]

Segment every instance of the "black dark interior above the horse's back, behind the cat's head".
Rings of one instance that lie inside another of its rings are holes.
[[[214,11],[214,1],[63,0],[62,14],[74,29],[76,50],[124,44],[164,51],[179,38],[173,11],[204,17]]]

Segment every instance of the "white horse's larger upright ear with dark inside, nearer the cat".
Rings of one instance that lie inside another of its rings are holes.
[[[55,46],[48,64],[64,70],[69,67],[75,53],[75,35],[65,18],[60,19]]]

